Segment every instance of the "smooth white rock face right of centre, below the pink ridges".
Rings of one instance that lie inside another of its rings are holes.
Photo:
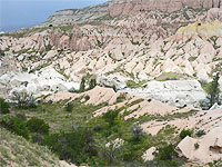
[[[150,81],[144,88],[122,90],[145,98],[168,102],[176,107],[198,107],[205,98],[205,92],[196,80]]]

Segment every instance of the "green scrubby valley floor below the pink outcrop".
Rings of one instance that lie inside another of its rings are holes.
[[[29,141],[48,146],[61,160],[77,165],[142,167],[165,164],[171,167],[183,163],[174,151],[174,146],[180,141],[180,137],[175,135],[178,132],[175,127],[168,126],[158,135],[151,136],[144,134],[138,122],[149,118],[160,119],[160,117],[143,116],[139,119],[123,119],[123,116],[130,114],[127,108],[137,105],[141,101],[140,99],[93,118],[93,112],[108,104],[85,105],[82,102],[83,98],[69,102],[72,106],[69,110],[67,101],[40,101],[36,108],[12,107],[11,115],[14,116],[1,116],[0,124],[17,127],[17,124],[6,120],[19,120],[20,124],[16,130],[14,128],[8,130],[22,136],[23,134],[19,132],[26,129],[28,137],[24,137]],[[117,102],[121,101],[117,100]],[[124,114],[120,115],[121,111]],[[112,144],[117,138],[122,139],[123,145],[118,148],[113,145],[105,147],[108,143]],[[157,147],[160,153],[157,153],[154,160],[144,163],[142,155],[152,146]]]

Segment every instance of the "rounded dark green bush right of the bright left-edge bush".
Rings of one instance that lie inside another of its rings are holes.
[[[39,118],[31,118],[27,121],[27,126],[31,132],[38,132],[42,135],[49,134],[49,125],[44,120]]]

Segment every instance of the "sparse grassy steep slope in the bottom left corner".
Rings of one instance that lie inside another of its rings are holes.
[[[64,167],[48,148],[0,129],[0,166]]]

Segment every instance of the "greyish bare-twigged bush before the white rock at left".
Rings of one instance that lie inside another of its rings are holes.
[[[13,91],[11,100],[16,102],[19,108],[36,108],[38,106],[36,98],[32,94],[28,94],[26,90]]]

